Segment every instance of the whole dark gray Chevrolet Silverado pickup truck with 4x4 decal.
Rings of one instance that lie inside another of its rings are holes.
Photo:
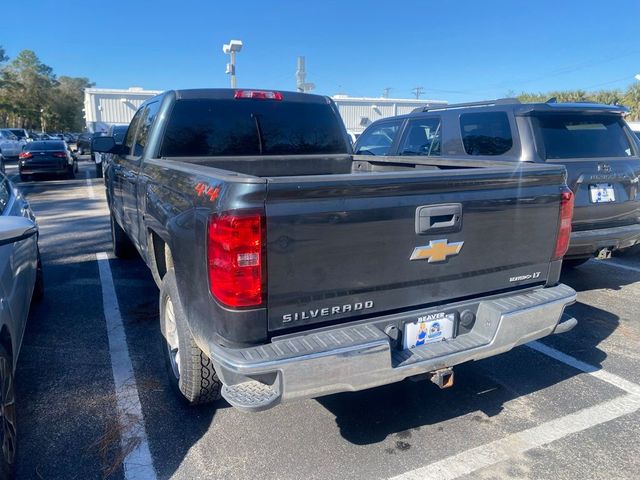
[[[114,251],[160,288],[169,378],[244,410],[428,375],[567,331],[565,168],[352,156],[333,102],[145,102],[105,171]]]

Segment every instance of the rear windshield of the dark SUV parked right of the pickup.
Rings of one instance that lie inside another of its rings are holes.
[[[617,115],[538,115],[534,122],[546,159],[633,155],[623,121]]]

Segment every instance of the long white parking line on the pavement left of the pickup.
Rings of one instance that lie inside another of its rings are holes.
[[[127,480],[155,480],[156,472],[149,450],[140,397],[129,357],[127,337],[120,315],[118,297],[113,285],[109,257],[96,253],[102,284],[102,303],[107,322],[111,369],[116,389],[116,408],[120,427],[120,446],[125,455],[124,476]]]

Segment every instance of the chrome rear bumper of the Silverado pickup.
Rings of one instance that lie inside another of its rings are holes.
[[[250,348],[211,344],[210,356],[227,401],[242,410],[258,411],[281,401],[397,382],[491,357],[555,331],[568,331],[576,321],[563,318],[563,312],[575,300],[576,292],[562,284],[480,300],[468,333],[411,350],[393,347],[380,328],[361,323]],[[443,309],[440,306],[406,316],[415,319]]]

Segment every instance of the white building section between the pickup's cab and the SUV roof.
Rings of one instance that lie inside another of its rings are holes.
[[[427,105],[447,105],[444,100],[414,100],[406,98],[367,98],[334,95],[345,127],[351,133],[361,133],[367,126],[380,119],[410,113],[414,108]]]

